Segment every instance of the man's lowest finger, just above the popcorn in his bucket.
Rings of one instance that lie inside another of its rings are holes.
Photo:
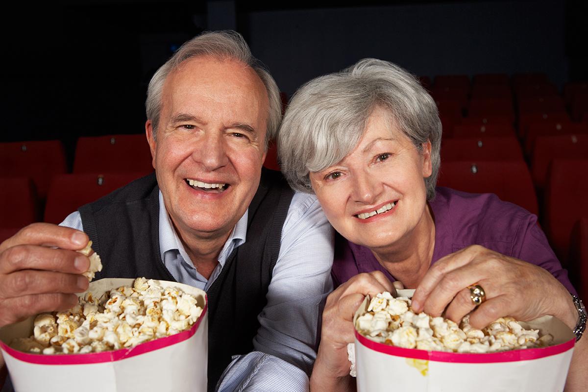
[[[44,311],[62,311],[78,303],[75,294],[35,294],[2,301],[0,327],[22,321]]]

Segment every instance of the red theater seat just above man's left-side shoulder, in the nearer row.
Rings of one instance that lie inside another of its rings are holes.
[[[51,182],[45,222],[61,223],[79,207],[93,202],[113,190],[122,187],[144,173],[65,174],[56,176]]]

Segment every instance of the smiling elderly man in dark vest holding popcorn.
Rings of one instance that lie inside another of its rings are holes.
[[[206,290],[209,390],[305,390],[333,244],[315,198],[262,170],[276,83],[240,35],[205,33],[155,73],[146,108],[155,175],[0,245],[0,326],[73,305],[89,237],[97,279]]]

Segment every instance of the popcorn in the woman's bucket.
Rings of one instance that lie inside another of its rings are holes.
[[[165,317],[164,317],[165,319]],[[377,294],[369,303],[368,313],[356,319],[363,336],[380,343],[406,349],[455,353],[491,353],[496,351],[549,346],[553,337],[539,337],[539,330],[526,330],[512,317],[501,317],[485,329],[469,323],[469,315],[457,325],[443,317],[413,313],[410,299]]]

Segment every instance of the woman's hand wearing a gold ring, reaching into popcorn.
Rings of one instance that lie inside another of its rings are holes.
[[[467,288],[472,284],[479,284],[486,292],[486,301],[477,309]],[[503,316],[528,321],[546,314],[572,323],[573,328],[571,302],[567,289],[547,270],[472,245],[430,267],[415,291],[412,307],[431,316],[440,316],[445,310],[445,317],[457,323],[475,309],[470,315],[475,328]]]

